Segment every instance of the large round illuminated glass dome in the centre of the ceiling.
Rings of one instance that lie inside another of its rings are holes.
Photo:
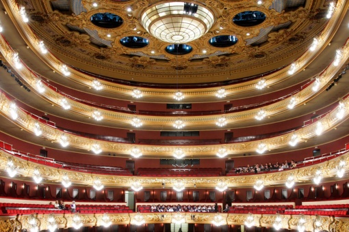
[[[202,5],[181,1],[151,5],[141,16],[144,29],[171,44],[185,44],[205,35],[215,23],[214,14]]]

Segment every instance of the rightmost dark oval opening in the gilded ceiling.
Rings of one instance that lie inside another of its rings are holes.
[[[246,11],[236,14],[233,22],[240,27],[252,27],[259,25],[266,20],[266,14],[259,11]]]

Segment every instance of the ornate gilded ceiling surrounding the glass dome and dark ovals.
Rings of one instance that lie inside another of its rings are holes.
[[[192,51],[171,55],[170,45],[149,34],[140,18],[155,1],[20,0],[29,25],[38,38],[62,61],[97,75],[148,83],[203,83],[270,72],[292,63],[309,48],[328,22],[327,1],[268,0],[201,1],[214,14],[215,23],[205,35],[189,42]],[[127,11],[131,8],[131,11]],[[233,23],[240,12],[259,11],[266,20],[241,27]],[[92,15],[112,13],[122,25],[103,28]],[[217,35],[233,35],[237,42],[227,48],[209,44]],[[144,48],[127,48],[120,40],[138,36],[148,40]],[[204,53],[206,51],[206,53]]]

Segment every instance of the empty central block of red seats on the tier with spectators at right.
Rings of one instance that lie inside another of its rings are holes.
[[[157,177],[216,177],[222,175],[220,168],[204,168],[204,169],[151,169],[140,168],[137,171],[140,176],[157,176]]]

